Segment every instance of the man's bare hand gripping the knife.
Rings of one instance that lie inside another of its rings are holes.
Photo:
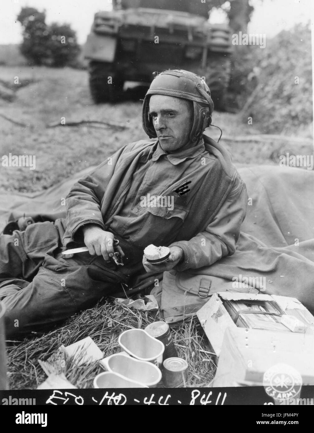
[[[124,257],[124,252],[121,247],[113,245],[113,234],[106,232],[100,226],[94,224],[88,224],[83,227],[84,244],[87,246],[88,251],[91,255],[102,255],[106,262],[110,262],[110,257],[115,252],[120,252]]]

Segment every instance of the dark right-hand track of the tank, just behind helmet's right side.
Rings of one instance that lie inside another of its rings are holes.
[[[215,109],[225,109],[225,96],[231,76],[230,58],[224,55],[210,56],[205,72],[206,83],[210,88]]]

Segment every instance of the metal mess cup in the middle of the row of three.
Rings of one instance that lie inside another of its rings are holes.
[[[162,373],[152,362],[140,361],[128,354],[116,353],[104,358],[100,364],[112,373],[118,373],[126,379],[140,382],[154,388],[161,380]]]

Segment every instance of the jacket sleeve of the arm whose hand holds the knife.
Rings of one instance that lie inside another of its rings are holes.
[[[86,224],[97,224],[105,229],[101,214],[102,199],[119,158],[131,145],[133,143],[123,146],[71,188],[65,200],[66,226],[68,234],[75,242],[83,240],[80,229]]]

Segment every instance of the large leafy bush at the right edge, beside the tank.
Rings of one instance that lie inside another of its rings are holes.
[[[298,84],[297,84],[298,83]],[[230,94],[267,133],[288,133],[313,121],[311,29],[298,24],[266,48],[236,47]]]

